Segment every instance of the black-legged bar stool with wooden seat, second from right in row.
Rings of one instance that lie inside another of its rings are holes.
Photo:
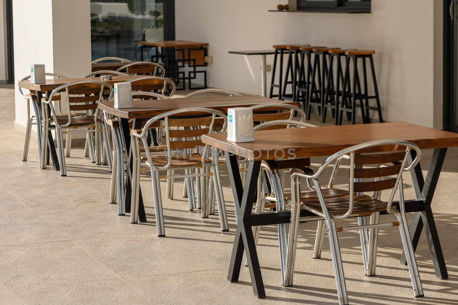
[[[341,87],[341,84],[344,82],[344,69],[342,68],[342,58],[346,58],[347,55],[345,55],[346,51],[355,51],[357,49],[329,49],[329,65],[328,65],[328,75],[327,75],[327,87],[326,87],[326,92],[324,94],[324,103],[322,105],[322,116],[321,116],[321,121],[322,123],[326,122],[326,112],[327,109],[330,108],[332,109],[333,113],[333,118],[335,118],[335,124],[338,125],[339,121],[339,115],[338,115],[338,108],[339,108],[339,96],[342,94],[342,91],[344,90],[343,87]],[[334,83],[334,58],[336,61],[336,81]],[[348,89],[349,91],[349,86],[348,84]],[[334,90],[335,88],[335,90]]]

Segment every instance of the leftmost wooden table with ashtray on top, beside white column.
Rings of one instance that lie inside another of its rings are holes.
[[[129,75],[129,76],[113,76],[113,78],[109,81],[103,81],[111,86],[114,86],[114,83],[116,82],[126,82],[132,79],[136,79],[140,76],[136,75]],[[100,81],[100,77],[89,77],[89,78],[60,78],[60,79],[48,79],[46,80],[45,83],[43,84],[34,84],[30,82],[30,80],[27,81],[20,81],[18,82],[18,86],[30,90],[30,92],[35,92],[37,95],[37,100],[32,101],[33,105],[33,110],[35,111],[35,117],[37,118],[37,122],[42,122],[42,112],[41,112],[41,98],[43,98],[43,93],[44,96],[49,97],[49,94],[51,94],[51,91],[53,91],[55,88],[71,83],[71,82],[77,82],[77,81],[87,81],[87,80],[98,80]],[[151,81],[149,81],[151,82]],[[158,87],[157,88],[152,88],[160,90],[164,87],[164,82],[158,80]],[[48,106],[49,107],[49,106]],[[37,125],[38,126],[38,125]],[[37,128],[37,138],[38,138],[38,156],[41,162],[41,139],[42,139],[42,129]],[[50,157],[53,161],[53,166],[55,170],[60,170],[59,166],[59,159],[57,157],[57,152],[55,150],[55,145],[54,145],[54,140],[51,134],[51,131],[48,133],[48,145],[49,145],[49,153]]]

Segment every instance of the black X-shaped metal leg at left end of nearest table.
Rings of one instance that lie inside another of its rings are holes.
[[[251,230],[251,211],[253,201],[256,197],[256,184],[261,169],[261,161],[250,160],[246,173],[245,187],[243,187],[237,156],[229,154],[229,152],[225,152],[225,156],[237,214],[237,230],[235,231],[228,280],[232,283],[238,282],[243,251],[245,250],[253,291],[258,298],[262,299],[266,297],[266,292],[264,290],[264,283],[262,282],[256,244]]]

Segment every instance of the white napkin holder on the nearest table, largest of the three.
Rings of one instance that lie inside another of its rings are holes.
[[[229,142],[253,142],[253,110],[237,107],[228,109],[228,138]]]

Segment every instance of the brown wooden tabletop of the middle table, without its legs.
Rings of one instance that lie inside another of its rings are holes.
[[[149,99],[136,100],[132,102],[132,108],[117,109],[114,108],[114,102],[99,103],[98,108],[106,113],[124,119],[149,119],[155,115],[176,109],[186,107],[197,108],[205,107],[227,113],[227,110],[232,107],[249,107],[262,103],[278,103],[278,100],[272,98],[264,98],[260,95],[243,95],[243,96],[213,96],[205,98],[171,98],[171,99]],[[300,106],[297,102],[288,104]],[[268,110],[268,109],[266,109]]]

